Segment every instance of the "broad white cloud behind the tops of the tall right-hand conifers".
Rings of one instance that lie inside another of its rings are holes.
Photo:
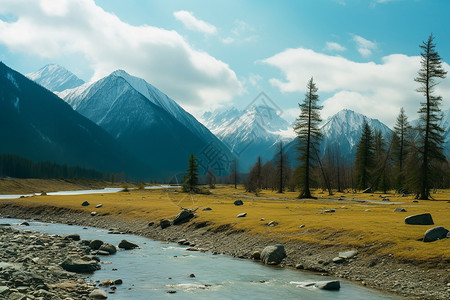
[[[272,85],[282,92],[305,92],[306,83],[314,76],[320,93],[331,94],[323,99],[325,119],[348,108],[392,126],[401,107],[410,120],[416,119],[422,95],[414,81],[420,68],[418,56],[392,54],[380,64],[358,63],[340,56],[331,56],[310,49],[287,49],[263,60],[279,68],[285,79],[271,78]],[[444,63],[450,71],[450,66]],[[450,107],[450,80],[438,85],[436,94],[444,99],[442,109]]]

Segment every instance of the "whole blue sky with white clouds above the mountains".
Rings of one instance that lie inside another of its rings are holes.
[[[326,118],[417,118],[419,44],[450,71],[448,0],[0,0],[0,60],[60,64],[85,81],[142,77],[195,116],[264,91],[293,121],[313,76]],[[450,108],[450,76],[438,87]]]

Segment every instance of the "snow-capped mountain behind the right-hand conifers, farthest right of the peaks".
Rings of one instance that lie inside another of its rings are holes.
[[[323,140],[320,145],[320,155],[324,156],[328,151],[339,155],[341,160],[352,162],[354,160],[356,145],[361,137],[362,125],[366,121],[373,131],[381,131],[385,139],[390,139],[392,130],[377,119],[371,119],[352,110],[343,109],[326,119],[320,129]],[[286,146],[289,160],[292,166],[296,164],[298,156],[296,141]]]

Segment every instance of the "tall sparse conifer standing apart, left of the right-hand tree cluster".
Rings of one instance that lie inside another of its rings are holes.
[[[317,87],[313,78],[308,81],[306,86],[306,94],[303,103],[299,104],[300,115],[294,125],[294,131],[297,134],[298,150],[300,152],[300,172],[299,185],[301,192],[298,198],[313,198],[311,196],[311,170],[315,159],[314,153],[318,151],[322,133],[319,125],[322,121],[320,118],[320,110],[322,106],[318,104],[319,95],[317,95]]]

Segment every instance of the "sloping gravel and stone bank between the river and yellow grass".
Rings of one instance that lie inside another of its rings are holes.
[[[190,245],[193,249],[208,250],[243,259],[252,259],[255,251],[262,251],[267,245],[282,243],[273,238],[236,231],[228,226],[213,230],[207,223],[197,223],[195,218],[178,225],[162,226],[163,229],[160,223],[148,223],[144,220],[124,220],[101,214],[91,216],[82,211],[55,207],[20,207],[13,203],[3,204],[1,214],[1,217],[9,215],[14,218],[44,222],[115,228],[117,231],[160,241],[182,240],[183,244]],[[287,258],[282,262],[282,266],[285,267],[348,279],[367,287],[404,296],[407,299],[449,299],[450,297],[450,266],[445,261],[441,265],[434,264],[428,267],[424,264],[400,262],[392,256],[380,256],[366,249],[321,247],[316,244],[298,242],[283,244],[287,254]],[[350,251],[351,255],[348,255],[349,250],[355,251]],[[347,254],[340,255],[342,253]]]

